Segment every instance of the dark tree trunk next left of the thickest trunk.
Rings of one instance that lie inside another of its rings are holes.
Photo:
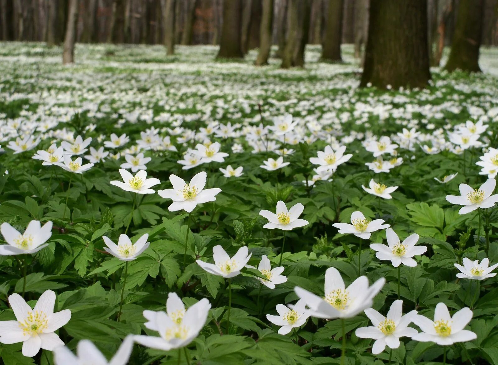
[[[329,0],[322,51],[322,60],[324,61],[342,62],[341,42],[343,12],[343,0]]]

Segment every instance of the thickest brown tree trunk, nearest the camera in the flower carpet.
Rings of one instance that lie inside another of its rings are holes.
[[[427,1],[372,0],[360,86],[427,86],[431,78],[427,42]]]

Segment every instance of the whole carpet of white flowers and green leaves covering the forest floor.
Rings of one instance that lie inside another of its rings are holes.
[[[426,90],[0,44],[0,358],[498,364],[498,51]]]

